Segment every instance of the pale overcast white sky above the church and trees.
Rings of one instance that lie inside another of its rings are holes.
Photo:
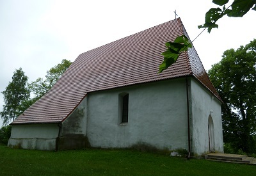
[[[211,0],[0,0],[0,92],[19,67],[35,81],[63,59],[74,61],[82,52],[175,19],[175,10],[193,40],[209,8],[216,8]],[[225,50],[256,38],[255,15],[251,10],[243,18],[224,17],[218,29],[195,40],[205,70]]]

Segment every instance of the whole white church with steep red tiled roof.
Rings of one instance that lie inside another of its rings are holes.
[[[223,152],[222,100],[195,48],[157,73],[165,43],[181,35],[188,36],[175,19],[80,54],[51,90],[12,122],[8,146],[143,144],[195,155]]]

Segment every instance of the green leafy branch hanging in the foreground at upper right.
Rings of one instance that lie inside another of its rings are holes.
[[[205,24],[198,26],[198,28],[208,29],[209,33],[211,33],[212,28],[218,28],[216,22],[225,15],[228,15],[228,17],[243,17],[249,10],[256,10],[256,0],[234,0],[228,8],[225,7],[228,0],[213,0],[212,3],[222,6],[223,10],[221,8],[211,8],[205,13]],[[188,51],[188,48],[192,47],[192,42],[189,42],[188,38],[182,35],[178,36],[174,42],[166,42],[166,47],[166,51],[162,53],[164,60],[159,65],[159,73],[175,63],[182,52]]]

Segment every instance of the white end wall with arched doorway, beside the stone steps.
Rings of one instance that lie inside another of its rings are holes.
[[[192,151],[195,154],[209,152],[208,119],[211,115],[214,125],[214,148],[223,152],[221,102],[204,86],[191,78],[191,129]]]

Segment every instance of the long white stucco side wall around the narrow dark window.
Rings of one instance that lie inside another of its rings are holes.
[[[118,94],[129,93],[129,119],[118,122]],[[87,136],[92,147],[186,148],[186,81],[174,79],[88,94]]]

